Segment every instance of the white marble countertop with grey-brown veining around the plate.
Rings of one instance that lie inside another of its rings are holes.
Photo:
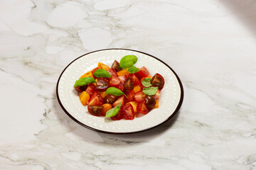
[[[0,1],[0,169],[256,169],[256,1]],[[176,117],[134,135],[83,128],[55,87],[103,48],[159,57]]]

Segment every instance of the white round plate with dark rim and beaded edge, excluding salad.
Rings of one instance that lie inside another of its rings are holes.
[[[125,55],[136,55],[136,67],[145,66],[151,76],[161,74],[165,79],[164,89],[161,90],[159,108],[134,120],[110,120],[109,118],[90,115],[87,106],[82,106],[78,93],[74,90],[75,81],[85,72],[97,67],[98,62],[109,66],[114,60],[119,61]],[[68,64],[58,79],[56,94],[60,106],[70,118],[80,125],[98,132],[115,134],[141,132],[161,125],[172,118],[183,101],[183,87],[180,79],[167,64],[158,58],[144,52],[127,49],[105,49],[89,52]]]

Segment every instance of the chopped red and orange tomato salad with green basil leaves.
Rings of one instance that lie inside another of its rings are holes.
[[[126,55],[111,68],[102,62],[75,81],[74,88],[90,114],[112,120],[134,120],[139,113],[146,115],[159,108],[164,77],[149,74],[146,67],[137,68],[138,58]]]

